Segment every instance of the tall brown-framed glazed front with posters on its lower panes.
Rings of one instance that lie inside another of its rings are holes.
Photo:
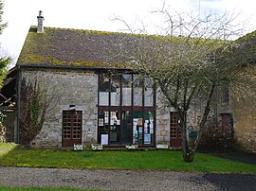
[[[100,74],[98,143],[155,145],[154,94],[148,78]]]

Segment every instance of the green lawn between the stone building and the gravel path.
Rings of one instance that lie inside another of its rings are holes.
[[[0,144],[1,148],[6,151],[0,152],[0,165],[9,166],[256,174],[256,165],[204,153],[196,153],[193,163],[185,163],[181,151],[63,151],[15,148],[9,144]]]

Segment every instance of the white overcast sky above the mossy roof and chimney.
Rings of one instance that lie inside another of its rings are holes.
[[[198,14],[229,12],[239,13],[240,21],[249,21],[247,31],[256,30],[255,0],[166,0],[167,8]],[[129,24],[137,18],[154,20],[151,11],[161,8],[163,0],[5,0],[4,21],[9,26],[0,36],[1,54],[16,60],[27,36],[29,26],[37,25],[39,10],[45,16],[44,26],[121,31],[122,17]]]

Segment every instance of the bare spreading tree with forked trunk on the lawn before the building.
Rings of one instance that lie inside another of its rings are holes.
[[[251,77],[255,73],[247,66],[251,65],[255,47],[250,42],[231,41],[242,30],[233,25],[233,15],[228,13],[207,15],[204,19],[187,13],[171,14],[164,7],[156,13],[164,18],[158,26],[163,36],[124,35],[119,41],[122,51],[117,57],[132,62],[132,68],[141,76],[152,78],[167,106],[178,113],[183,159],[192,162],[206,130],[216,88],[231,85],[237,90],[254,84]],[[116,20],[123,22],[132,34],[145,31],[134,30],[121,18]],[[191,143],[187,137],[187,113],[196,99],[200,99],[202,117]]]

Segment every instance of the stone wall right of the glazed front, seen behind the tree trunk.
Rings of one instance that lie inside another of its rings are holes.
[[[229,103],[222,103],[222,92],[219,89],[216,89],[216,92],[214,93],[214,99],[211,103],[211,111],[209,114],[209,120],[207,123],[207,132],[205,135],[205,138],[208,140],[211,140],[210,145],[216,144],[216,138],[215,134],[219,134],[221,131],[223,137],[227,136],[227,140],[229,141],[230,135],[231,135],[231,127],[229,127],[229,130],[222,130],[221,123],[222,113],[231,113],[231,108]],[[157,91],[156,96],[156,144],[166,144],[170,145],[170,113],[175,112],[173,108],[165,107],[167,106],[167,101],[164,96],[161,95],[161,92]],[[205,102],[202,101],[202,99],[193,99],[191,104],[191,109],[187,112],[187,138],[189,141],[194,141],[194,137],[190,137],[189,133],[190,130],[198,130],[198,125],[201,120],[201,117],[205,110]],[[210,133],[208,133],[210,132]],[[226,139],[225,139],[226,140]]]

